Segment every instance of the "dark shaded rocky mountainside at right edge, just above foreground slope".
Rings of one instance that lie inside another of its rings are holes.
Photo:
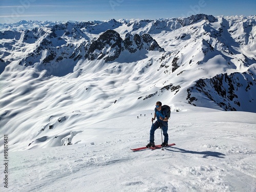
[[[249,71],[230,75],[219,74],[210,79],[199,79],[194,87],[187,89],[187,93],[187,100],[190,104],[200,105],[202,98],[206,97],[225,111],[253,112],[256,80]],[[248,106],[243,103],[252,104]]]

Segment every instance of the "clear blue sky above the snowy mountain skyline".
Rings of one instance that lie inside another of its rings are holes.
[[[0,0],[0,23],[255,15],[256,0]]]

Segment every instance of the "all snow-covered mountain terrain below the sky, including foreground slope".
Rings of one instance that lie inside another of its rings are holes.
[[[254,191],[255,39],[255,15],[0,25],[9,191]],[[132,154],[156,101],[177,147]]]

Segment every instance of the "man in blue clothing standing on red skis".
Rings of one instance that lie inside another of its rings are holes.
[[[157,121],[153,123],[153,121],[157,118]],[[168,117],[167,117],[167,111],[166,109],[162,109],[162,103],[160,101],[156,102],[156,108],[155,108],[155,115],[154,118],[152,118],[152,126],[150,130],[150,142],[146,145],[146,147],[154,147],[154,134],[155,131],[160,128],[163,131],[164,135],[164,141],[161,144],[161,146],[167,146],[168,145]]]

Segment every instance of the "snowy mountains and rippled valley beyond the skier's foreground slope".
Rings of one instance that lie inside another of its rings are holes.
[[[13,151],[96,137],[84,129],[158,100],[256,112],[255,16],[32,23],[0,32],[0,127]]]

